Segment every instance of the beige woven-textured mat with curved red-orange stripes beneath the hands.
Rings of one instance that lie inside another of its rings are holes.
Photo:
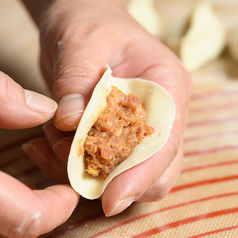
[[[228,15],[225,11],[224,19]],[[226,52],[192,79],[184,163],[170,194],[158,202],[134,203],[111,218],[100,201],[81,199],[65,224],[42,237],[238,237],[238,66]],[[42,135],[41,127],[0,130],[0,169],[40,189],[54,184],[21,149]]]

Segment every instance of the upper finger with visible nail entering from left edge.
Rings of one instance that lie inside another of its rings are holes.
[[[57,104],[52,99],[24,90],[0,72],[0,128],[34,127],[53,117]]]

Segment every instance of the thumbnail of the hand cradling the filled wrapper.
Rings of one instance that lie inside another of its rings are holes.
[[[61,98],[55,121],[60,121],[84,111],[85,102],[81,94],[69,94]]]

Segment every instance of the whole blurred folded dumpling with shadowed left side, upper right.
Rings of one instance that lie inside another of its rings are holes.
[[[218,58],[226,47],[225,26],[210,1],[197,3],[189,18],[171,24],[164,42],[180,57],[189,72]]]

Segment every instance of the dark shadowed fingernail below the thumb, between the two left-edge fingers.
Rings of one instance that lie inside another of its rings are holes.
[[[36,146],[31,143],[25,143],[22,145],[22,149],[39,168],[47,166],[49,162],[47,156],[41,150],[38,150]]]

